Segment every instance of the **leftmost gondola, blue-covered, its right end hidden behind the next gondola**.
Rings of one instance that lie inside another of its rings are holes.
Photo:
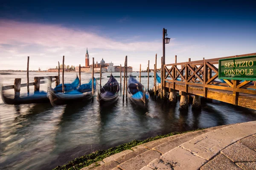
[[[59,86],[61,86],[62,91],[62,84],[58,85],[55,89],[56,91],[60,91]],[[79,86],[79,79],[76,77],[75,81],[70,84],[64,84],[65,91],[70,91],[70,89],[77,88]],[[49,99],[47,97],[47,92],[45,91],[35,91],[34,94],[30,94],[29,96],[22,96],[22,97],[14,97],[9,98],[6,96],[6,94],[3,93],[5,88],[1,87],[1,96],[3,99],[3,102],[8,105],[20,105],[20,104],[32,104],[32,103],[47,103],[49,102]]]

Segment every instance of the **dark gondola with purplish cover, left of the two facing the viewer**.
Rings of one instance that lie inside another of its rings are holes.
[[[111,105],[118,99],[118,92],[120,90],[119,83],[110,75],[108,82],[100,89],[97,100],[100,105]]]

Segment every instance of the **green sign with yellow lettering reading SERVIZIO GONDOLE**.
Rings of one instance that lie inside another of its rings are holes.
[[[256,80],[256,56],[219,59],[218,78]]]

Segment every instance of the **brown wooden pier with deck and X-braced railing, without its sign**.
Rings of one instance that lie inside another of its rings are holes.
[[[245,108],[256,109],[256,83],[253,81],[228,80],[217,82],[219,59],[252,56],[243,54],[215,59],[164,64],[161,78],[164,78],[158,91],[163,87],[166,92],[180,91],[181,95],[203,96]],[[256,78],[256,77],[255,77]],[[200,99],[200,98],[199,98]]]

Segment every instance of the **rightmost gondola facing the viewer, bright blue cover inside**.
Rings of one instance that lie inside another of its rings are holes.
[[[145,91],[145,87],[132,76],[130,76],[128,81],[128,97],[141,108],[146,108],[148,105],[148,91]]]

